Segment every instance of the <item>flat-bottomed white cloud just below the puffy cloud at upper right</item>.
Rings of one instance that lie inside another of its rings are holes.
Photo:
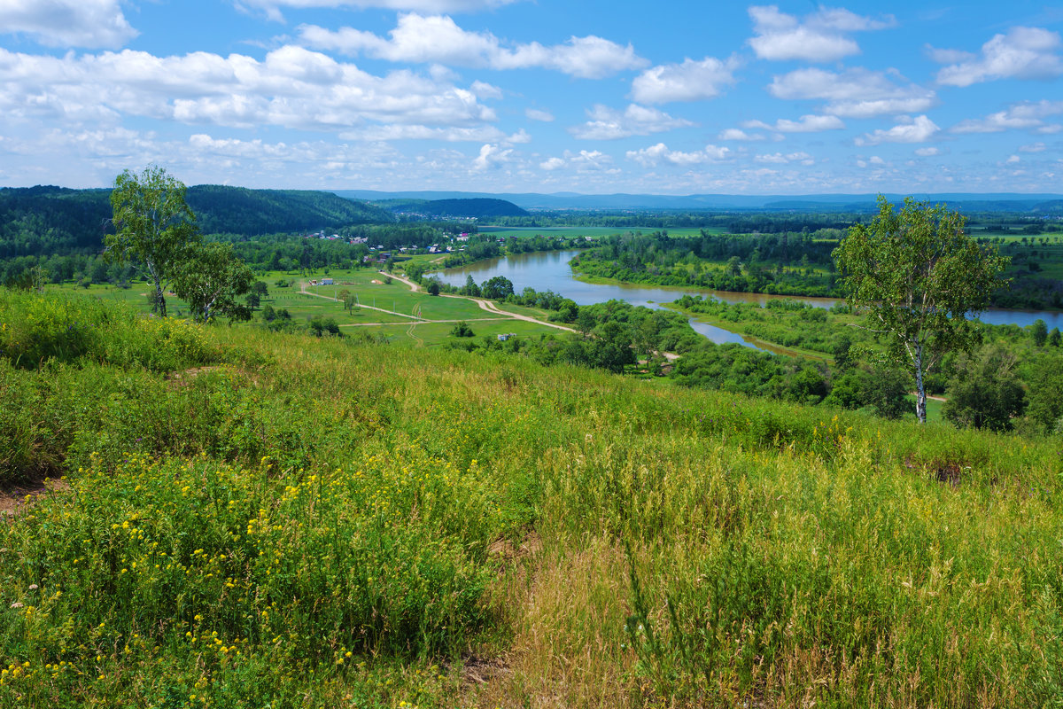
[[[873,118],[926,111],[934,105],[935,94],[915,84],[895,84],[883,72],[847,69],[797,69],[774,77],[767,86],[777,99],[821,99],[829,101],[823,112],[843,118]]]

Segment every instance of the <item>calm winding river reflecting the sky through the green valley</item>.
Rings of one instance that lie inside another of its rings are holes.
[[[627,301],[631,305],[659,307],[659,303],[671,303],[687,294],[712,297],[728,303],[757,303],[763,305],[767,301],[779,298],[809,303],[816,307],[829,308],[838,302],[836,298],[807,298],[803,296],[769,296],[766,293],[737,293],[723,290],[693,290],[689,288],[670,288],[668,286],[640,286],[624,284],[596,284],[577,281],[575,273],[569,267],[569,261],[578,251],[543,251],[530,254],[518,254],[503,258],[489,258],[476,261],[461,268],[451,268],[440,271],[437,275],[444,283],[463,286],[466,278],[472,276],[476,283],[484,283],[496,275],[504,275],[513,284],[513,290],[520,292],[532,287],[536,290],[553,290],[566,298],[571,298],[577,305],[604,303],[609,300]],[[1041,310],[1003,310],[991,308],[979,317],[982,322],[994,325],[1015,324],[1019,327],[1032,325],[1036,319],[1047,323],[1048,328],[1063,330],[1063,313]],[[691,319],[691,326],[713,342],[738,342],[756,348],[741,335],[728,333],[726,330]]]

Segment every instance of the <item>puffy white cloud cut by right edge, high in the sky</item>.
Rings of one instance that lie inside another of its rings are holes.
[[[949,86],[971,86],[997,79],[1051,79],[1063,74],[1058,32],[1016,27],[1008,34],[994,35],[982,45],[981,54],[937,54],[954,64],[938,72],[938,82]]]

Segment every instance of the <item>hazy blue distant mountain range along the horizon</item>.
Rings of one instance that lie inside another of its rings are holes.
[[[877,195],[579,195],[577,192],[448,192],[376,191],[371,189],[336,190],[340,197],[372,202],[386,200],[506,200],[524,209],[780,209],[871,212]],[[891,201],[906,195],[887,193]],[[915,192],[913,197],[944,202],[966,212],[1030,212],[1063,214],[1063,195],[1026,195],[1020,192]]]

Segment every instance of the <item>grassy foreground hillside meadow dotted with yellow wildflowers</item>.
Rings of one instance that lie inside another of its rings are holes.
[[[0,398],[2,707],[1063,692],[1059,439],[6,292]]]

